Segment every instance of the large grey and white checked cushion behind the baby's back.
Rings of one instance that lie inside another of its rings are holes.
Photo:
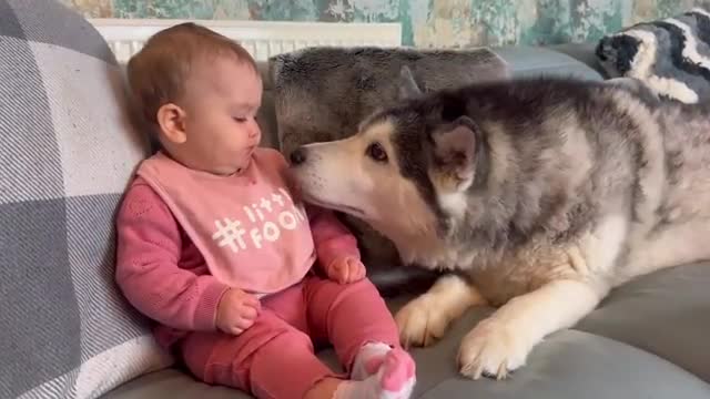
[[[144,143],[88,21],[47,0],[0,16],[0,398],[95,397],[170,361],[113,278]]]

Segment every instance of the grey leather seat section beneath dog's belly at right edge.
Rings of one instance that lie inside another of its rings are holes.
[[[710,382],[710,263],[640,277],[576,328],[653,354]]]

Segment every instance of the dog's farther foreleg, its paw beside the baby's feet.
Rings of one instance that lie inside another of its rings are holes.
[[[486,301],[478,290],[457,275],[439,277],[429,290],[405,305],[395,316],[405,347],[429,346],[466,309]]]

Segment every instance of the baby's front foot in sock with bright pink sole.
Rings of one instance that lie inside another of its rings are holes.
[[[362,381],[344,381],[334,399],[408,399],[414,389],[414,360],[403,349],[389,349],[365,365],[371,375]]]

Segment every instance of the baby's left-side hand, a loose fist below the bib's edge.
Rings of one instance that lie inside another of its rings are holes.
[[[217,328],[226,334],[240,335],[252,327],[261,311],[258,299],[239,288],[230,288],[217,305]]]

